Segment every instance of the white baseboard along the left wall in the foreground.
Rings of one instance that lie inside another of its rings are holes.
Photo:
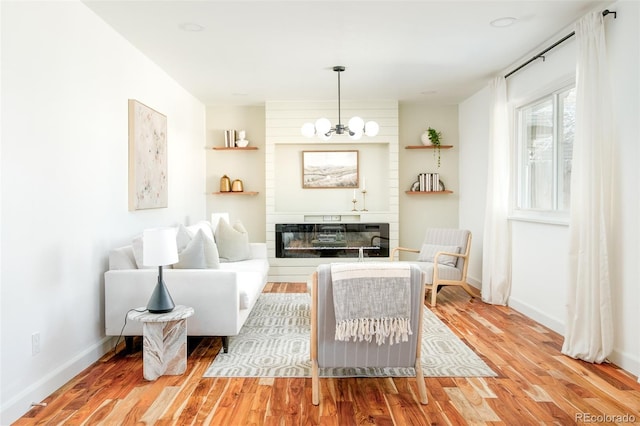
[[[51,371],[37,382],[27,386],[22,392],[5,401],[0,408],[0,424],[11,424],[31,409],[33,402],[40,402],[62,387],[85,368],[99,360],[115,344],[112,336],[80,352],[77,356]]]

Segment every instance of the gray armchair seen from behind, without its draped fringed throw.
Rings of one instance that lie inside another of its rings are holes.
[[[388,262],[363,262],[367,265],[362,278],[368,284],[368,276],[380,279],[376,264],[389,266]],[[405,265],[406,267],[406,265]],[[410,306],[410,327],[413,334],[408,336],[408,341],[376,343],[375,340],[341,341],[336,340],[336,311],[334,307],[334,280],[331,274],[331,265],[320,265],[312,276],[311,286],[311,365],[312,365],[312,402],[320,403],[319,369],[323,367],[410,367],[415,368],[416,380],[420,402],[427,403],[427,390],[420,363],[422,315],[424,310],[424,285],[422,271],[415,265],[410,265],[410,293],[405,294]],[[406,269],[405,269],[406,272]],[[382,278],[388,280],[389,278]],[[382,281],[386,285],[386,281]],[[367,286],[368,287],[368,286]],[[373,287],[371,287],[373,288]],[[366,292],[364,292],[366,293]],[[361,293],[361,297],[367,300],[367,294]],[[402,295],[398,296],[402,297]],[[410,297],[410,299],[409,299]],[[375,299],[375,298],[374,298]],[[392,298],[382,298],[390,300]],[[380,299],[379,299],[380,300]]]

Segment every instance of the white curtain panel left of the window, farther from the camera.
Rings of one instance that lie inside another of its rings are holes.
[[[511,293],[511,229],[507,220],[511,143],[505,78],[496,77],[490,83],[490,89],[492,109],[482,243],[482,300],[506,305]]]

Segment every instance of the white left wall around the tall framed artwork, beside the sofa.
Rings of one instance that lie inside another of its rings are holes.
[[[111,347],[108,250],[144,228],[204,218],[205,111],[82,3],[0,7],[0,423],[8,424]],[[168,208],[127,209],[129,98],[168,117]]]

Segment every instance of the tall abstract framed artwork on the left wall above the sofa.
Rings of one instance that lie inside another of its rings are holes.
[[[167,117],[129,99],[129,210],[167,207]]]

